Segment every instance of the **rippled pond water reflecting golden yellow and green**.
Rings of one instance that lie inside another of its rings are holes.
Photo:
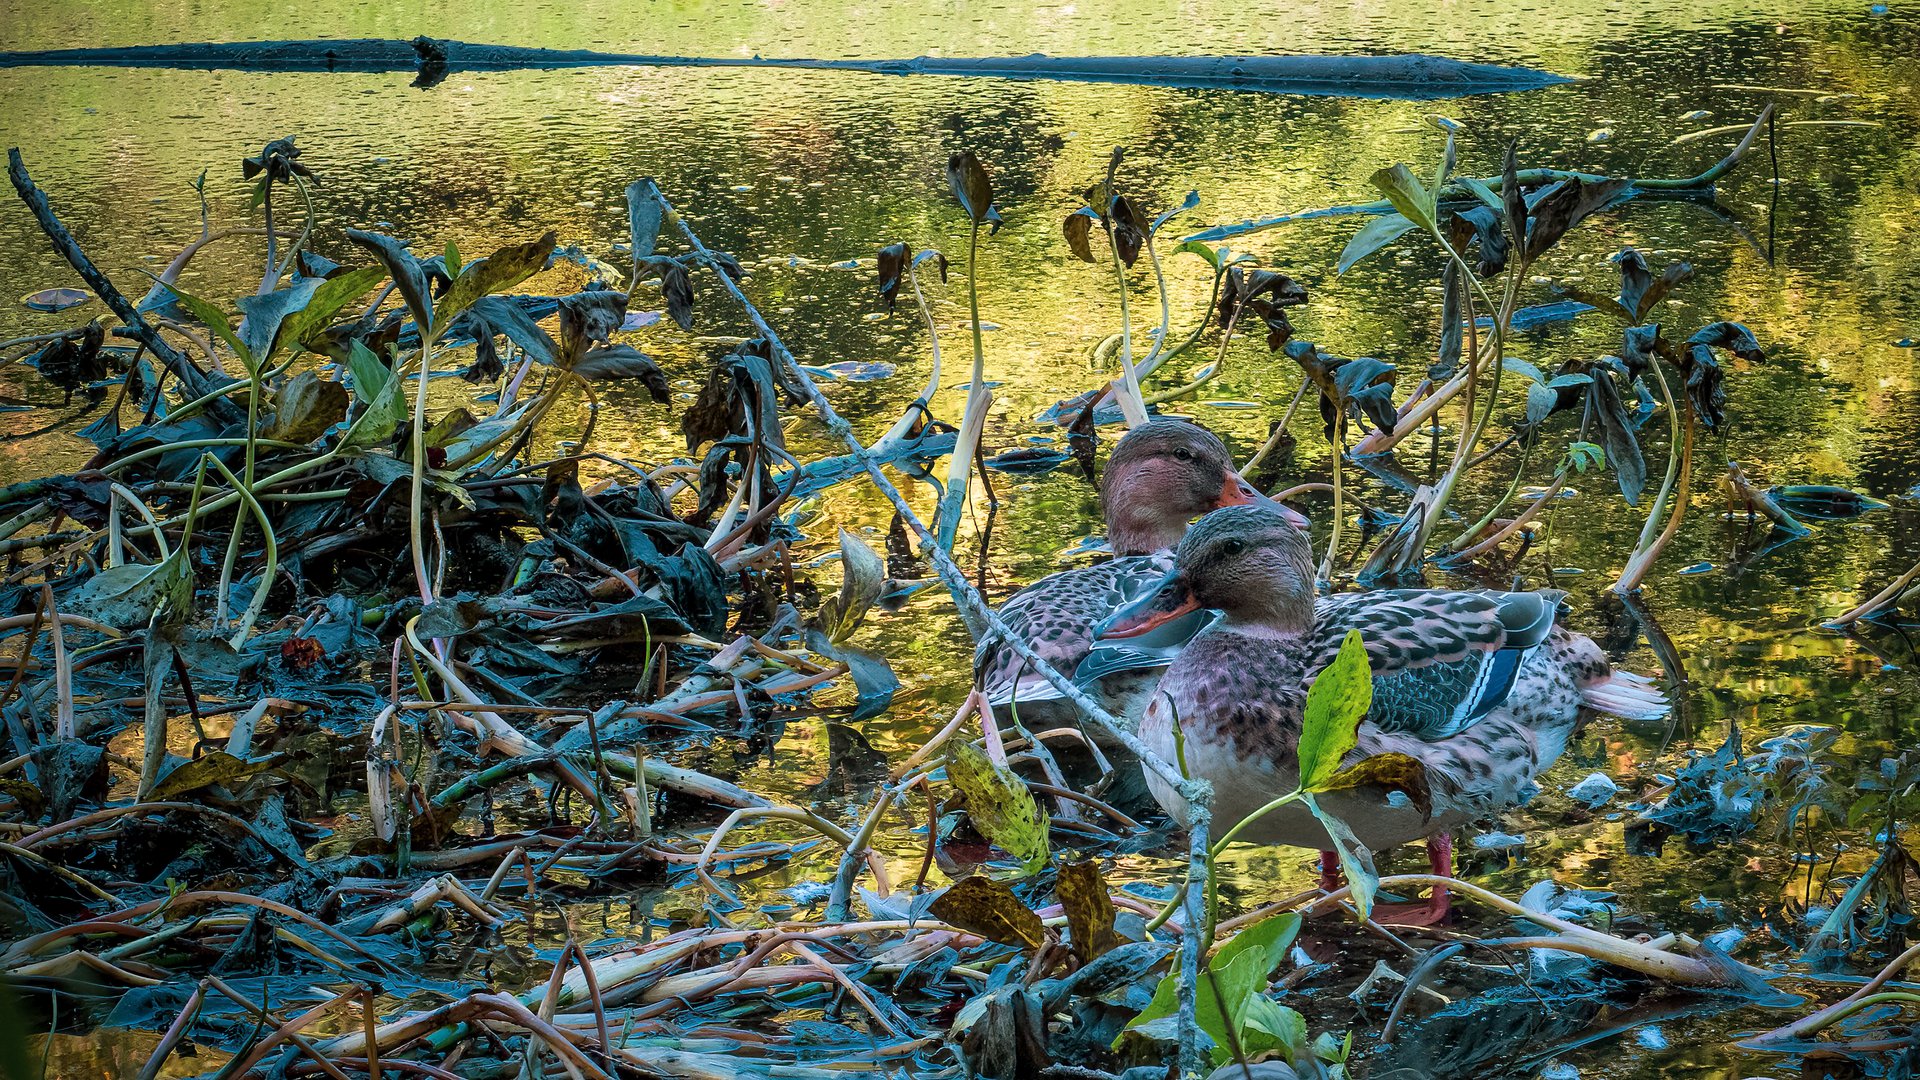
[[[1146,194],[1156,209],[1198,190],[1200,208],[1183,219],[1198,229],[1371,200],[1369,173],[1394,161],[1427,173],[1442,142],[1423,123],[1434,111],[1463,127],[1465,173],[1498,173],[1505,138],[1517,136],[1523,165],[1667,177],[1697,173],[1738,138],[1676,144],[1678,136],[1751,121],[1772,102],[1780,110],[1772,146],[1778,184],[1763,148],[1720,184],[1713,206],[1638,200],[1580,229],[1542,269],[1605,292],[1613,284],[1605,259],[1622,244],[1645,252],[1655,267],[1684,258],[1697,275],[1665,309],[1667,323],[1686,334],[1738,319],[1768,357],[1728,375],[1730,430],[1703,446],[1707,482],[1647,582],[1647,617],[1684,667],[1665,673],[1678,701],[1674,723],[1609,719],[1588,726],[1544,778],[1546,796],[1503,822],[1526,836],[1519,857],[1465,869],[1509,896],[1544,876],[1613,890],[1620,911],[1649,926],[1705,934],[1766,919],[1788,926],[1809,896],[1820,901],[1832,874],[1872,859],[1872,840],[1826,813],[1816,815],[1811,838],[1789,842],[1768,826],[1732,847],[1699,851],[1674,840],[1659,855],[1634,855],[1624,836],[1632,815],[1586,813],[1563,792],[1597,771],[1636,796],[1657,774],[1670,774],[1688,749],[1720,746],[1736,723],[1749,744],[1822,724],[1839,732],[1830,769],[1843,809],[1857,774],[1916,740],[1910,642],[1899,632],[1849,640],[1814,628],[1920,557],[1920,350],[1897,344],[1920,336],[1920,13],[1912,6],[1876,12],[1851,0],[1711,0],[1668,12],[1626,2],[1496,0],[1432,12],[1402,0],[1284,10],[1219,0],[924,8],[856,0],[319,0],[294,10],[167,0],[127,10],[0,0],[0,48],[8,50],[424,33],[685,56],[1438,52],[1582,79],[1523,94],[1394,102],[753,69],[455,73],[432,90],[411,88],[405,75],[0,71],[0,142],[21,148],[79,240],[134,294],[144,288],[142,269],[157,273],[198,234],[200,202],[190,183],[205,169],[213,221],[248,223],[238,163],[284,135],[298,136],[301,161],[319,175],[313,246],[334,258],[346,258],[342,229],[374,223],[424,240],[428,252],[455,242],[468,256],[557,229],[563,244],[609,258],[611,244],[626,236],[624,186],[653,175],[708,244],[749,265],[749,294],[803,361],[897,365],[891,379],[828,386],[835,407],[868,436],[899,415],[927,369],[925,332],[908,307],[870,317],[874,252],[895,240],[966,250],[943,165],[948,152],[972,148],[993,171],[1008,219],[983,242],[979,267],[983,321],[993,327],[987,367],[1002,382],[985,436],[991,450],[1060,436],[1035,417],[1098,379],[1091,350],[1117,329],[1119,304],[1108,269],[1071,261],[1060,217],[1077,206],[1075,192],[1096,179],[1114,146],[1129,150],[1127,190]],[[1308,221],[1233,246],[1308,284],[1311,304],[1294,319],[1300,336],[1419,373],[1430,361],[1438,323],[1432,250],[1402,244],[1334,275],[1354,229],[1354,219]],[[248,244],[209,248],[182,284],[205,296],[250,292],[259,252]],[[943,342],[964,352],[964,267],[954,269],[952,284],[933,288],[935,315]],[[1175,325],[1190,327],[1210,279],[1187,256],[1169,259],[1167,271]],[[568,281],[568,273],[553,271],[555,292],[584,281],[578,273]],[[38,315],[13,300],[54,284],[77,282],[31,215],[8,200],[0,206],[0,338],[98,313]],[[1534,300],[1551,296],[1540,286]],[[1135,313],[1156,307],[1144,275],[1135,277],[1133,304]],[[699,317],[699,334],[745,332],[710,284],[701,286]],[[664,327],[628,340],[657,356],[685,396],[726,348]],[[1615,348],[1615,325],[1596,313],[1521,334],[1513,352],[1551,367]],[[1292,363],[1271,359],[1252,338],[1238,340],[1225,375],[1181,409],[1244,455],[1284,409],[1298,379]],[[461,392],[436,388],[449,404]],[[52,388],[17,367],[0,371],[0,394],[58,404]],[[935,411],[958,417],[960,398],[948,388]],[[684,400],[670,409],[637,390],[609,394],[599,448],[637,459],[684,454],[674,411]],[[58,407],[0,413],[0,482],[73,469],[88,457],[90,444],[71,434],[84,419],[46,430],[61,417],[67,413]],[[1296,430],[1302,444],[1283,479],[1327,480],[1331,459],[1313,425]],[[1655,421],[1647,430],[1659,469],[1665,425]],[[795,421],[789,440],[797,450],[828,446],[826,432],[806,419]],[[1425,438],[1411,440],[1404,467],[1425,475],[1427,448]],[[1728,457],[1763,482],[1839,484],[1891,509],[1820,525],[1805,540],[1755,555],[1751,530],[1718,519],[1722,494],[1713,480]],[[1475,492],[1465,509],[1498,494],[1492,488],[1511,469],[1511,459],[1501,461],[1480,473],[1490,490]],[[1551,461],[1536,461],[1524,482],[1546,482],[1549,473]],[[1000,513],[985,557],[995,596],[1073,563],[1073,550],[1098,530],[1094,492],[1071,469],[1039,479],[1000,475],[996,488]],[[1576,498],[1553,515],[1544,550],[1523,573],[1530,586],[1571,590],[1574,625],[1599,636],[1615,625],[1599,594],[1632,548],[1640,517],[1607,477],[1582,477],[1574,488]],[[931,509],[929,492],[912,498]],[[1405,496],[1367,479],[1359,498],[1400,507]],[[808,509],[816,513],[806,525],[814,540],[808,557],[831,550],[835,523],[866,528],[876,542],[887,525],[877,496],[856,484]],[[1323,534],[1327,503],[1309,509]],[[975,511],[985,513],[983,502]],[[964,538],[970,555],[973,544]],[[1682,575],[1682,567],[1697,573]],[[831,567],[826,575],[831,580]],[[893,709],[860,724],[876,749],[899,757],[958,703],[970,644],[939,590],[922,592],[900,613],[876,613],[860,644],[889,655],[902,676]],[[1613,644],[1617,663],[1661,673],[1644,636]],[[774,753],[718,748],[707,765],[783,798],[839,790],[822,784],[831,753],[820,721],[789,723]],[[824,803],[852,813],[845,807],[864,799],[854,784]],[[885,846],[908,874],[918,867],[920,840],[906,822]],[[1165,874],[1167,865],[1146,855],[1123,861],[1142,878]],[[1413,853],[1400,865],[1411,867]],[[762,897],[780,897],[818,871],[818,863],[795,865],[768,876]],[[1229,869],[1227,901],[1244,907],[1308,884],[1309,853],[1242,851]],[[697,905],[697,896],[645,903],[672,913]],[[582,932],[591,934],[595,919],[618,932],[632,919],[628,897],[599,915],[582,911]],[[1793,955],[1764,938],[1749,938],[1740,957],[1764,965]],[[1359,1022],[1340,1005],[1306,1011],[1315,1026]],[[1659,1020],[1659,1038],[1642,1028],[1571,1047],[1559,1061],[1582,1076],[1797,1074],[1797,1065],[1726,1049],[1730,1032],[1774,1022],[1766,1013],[1680,1013]],[[1553,1038],[1571,1042],[1574,1034]],[[1505,1047],[1498,1057],[1513,1074],[1528,1074],[1513,1063],[1536,1061],[1542,1051]],[[1484,1068],[1476,1074],[1503,1074]]]

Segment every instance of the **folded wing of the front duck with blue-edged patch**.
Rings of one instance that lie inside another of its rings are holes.
[[[1521,665],[1553,630],[1559,592],[1386,590],[1315,603],[1309,671],[1321,671],[1348,630],[1373,665],[1380,730],[1423,740],[1459,734],[1498,709]]]

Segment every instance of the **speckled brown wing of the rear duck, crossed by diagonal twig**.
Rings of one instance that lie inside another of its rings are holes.
[[[1014,594],[1000,605],[1000,619],[1008,630],[1031,644],[1033,651],[1041,653],[1054,669],[1071,678],[1094,648],[1094,625],[1112,615],[1121,603],[1154,588],[1171,569],[1173,553],[1162,552],[1154,555],[1125,555],[1096,567],[1062,571]],[[1188,630],[1187,636],[1190,638],[1196,632],[1198,626]],[[1156,638],[1154,648],[1169,644],[1158,642],[1158,636],[1152,638]],[[1112,642],[1108,650],[1119,644]],[[1185,638],[1179,644],[1185,644]],[[1177,651],[1177,648],[1171,651]],[[1156,667],[1171,663],[1171,651]],[[1144,667],[1144,663],[1112,667],[1110,671],[1125,671],[1125,667]],[[1060,698],[1060,692],[1031,663],[993,632],[983,636],[979,648],[973,651],[973,676],[993,705]]]

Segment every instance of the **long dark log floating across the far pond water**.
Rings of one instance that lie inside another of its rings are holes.
[[[453,71],[555,67],[804,67],[876,75],[975,75],[1137,83],[1350,98],[1452,98],[1534,90],[1567,77],[1534,67],[1444,56],[1004,56],[914,60],[699,58],[522,48],[419,37],[346,40],[188,42],[129,48],[0,52],[0,67],[182,67],[236,71],[413,71],[434,85]]]

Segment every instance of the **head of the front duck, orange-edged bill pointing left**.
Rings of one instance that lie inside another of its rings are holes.
[[[1094,632],[1135,638],[1202,607],[1244,634],[1304,634],[1313,625],[1313,548],[1306,532],[1267,507],[1217,509],[1187,530],[1173,573]]]

